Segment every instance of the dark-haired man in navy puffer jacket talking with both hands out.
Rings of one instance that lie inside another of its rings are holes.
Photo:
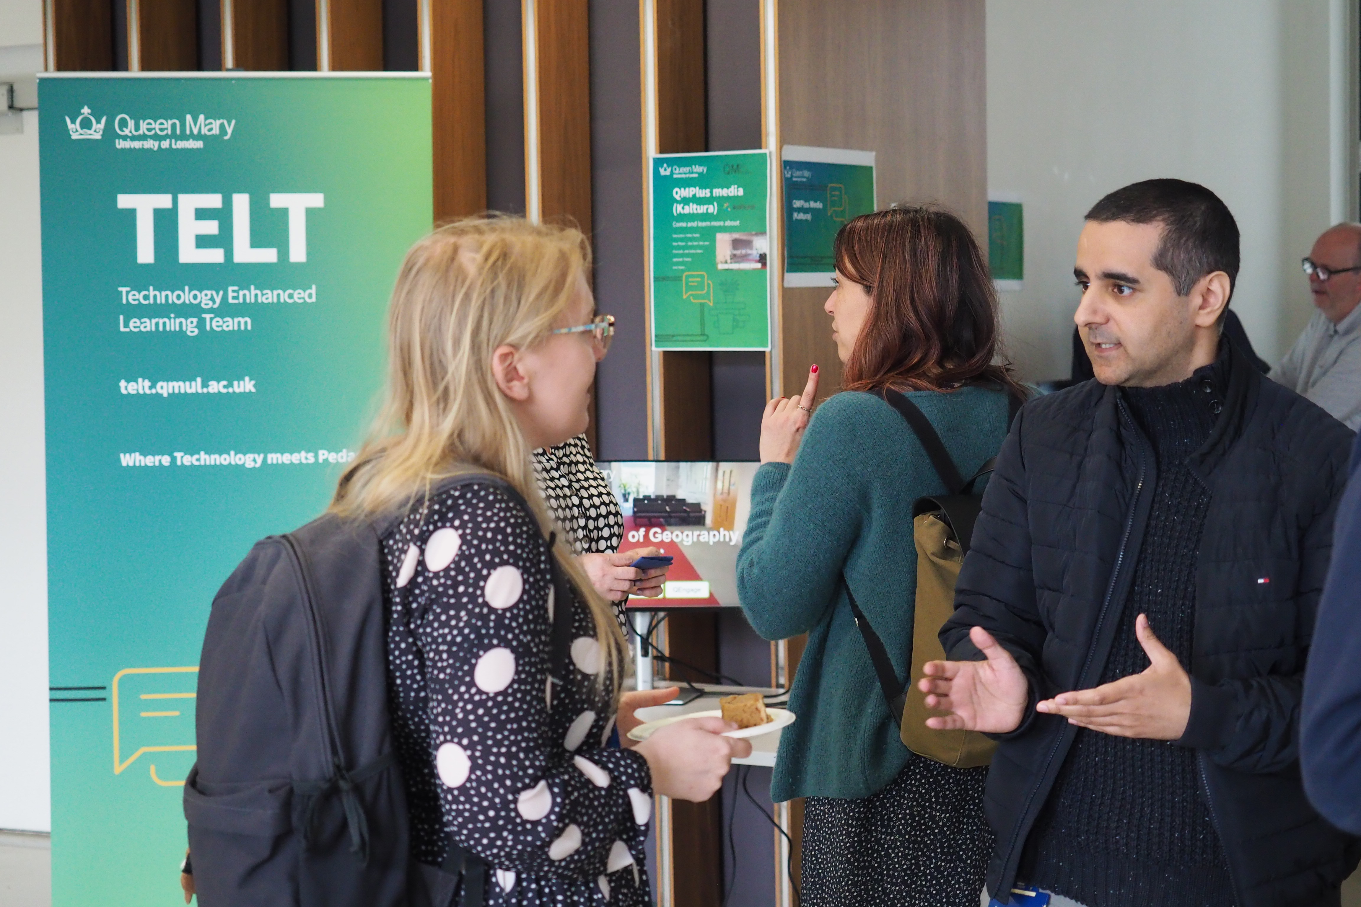
[[[1239,231],[1209,189],[1111,193],[1077,265],[1096,381],[1018,416],[921,681],[930,725],[1000,740],[988,889],[1337,904],[1361,842],[1297,741],[1351,432],[1221,341]]]

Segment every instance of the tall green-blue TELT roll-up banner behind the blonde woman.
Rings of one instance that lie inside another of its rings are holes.
[[[176,904],[208,608],[373,413],[430,82],[39,86],[53,903]]]

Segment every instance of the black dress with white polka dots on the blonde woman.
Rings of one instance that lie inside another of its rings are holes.
[[[494,485],[433,498],[384,541],[388,684],[412,850],[448,835],[493,868],[489,904],[648,903],[646,761],[607,749],[608,683],[589,612],[555,602],[531,518]],[[573,670],[550,684],[554,606]]]

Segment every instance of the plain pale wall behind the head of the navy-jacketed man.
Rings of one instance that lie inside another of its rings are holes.
[[[1330,67],[1351,3],[988,0],[988,184],[1025,204],[1023,288],[1002,294],[1025,378],[1068,374],[1082,215],[1150,177],[1225,200],[1243,234],[1233,307],[1264,359],[1289,348],[1312,310],[1300,257],[1356,205],[1350,120],[1334,122],[1354,82],[1346,60]]]

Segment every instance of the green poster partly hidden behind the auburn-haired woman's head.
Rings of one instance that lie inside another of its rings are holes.
[[[874,211],[874,152],[784,146],[784,286],[830,287],[841,224]]]

